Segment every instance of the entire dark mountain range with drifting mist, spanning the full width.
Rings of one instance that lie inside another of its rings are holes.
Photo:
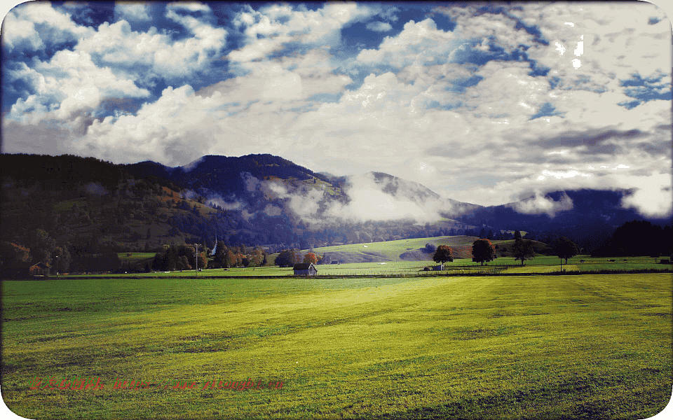
[[[183,167],[73,155],[0,155],[3,240],[42,229],[57,242],[154,250],[170,242],[309,248],[522,230],[601,237],[647,219],[626,190],[555,191],[483,207],[383,174],[334,176],[273,155],[208,155]],[[590,242],[590,241],[589,241]],[[597,244],[599,245],[599,244]]]

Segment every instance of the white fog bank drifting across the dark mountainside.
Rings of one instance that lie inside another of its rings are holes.
[[[419,183],[373,172],[348,176],[343,189],[318,179],[265,180],[250,172],[242,172],[240,178],[245,191],[238,195],[223,196],[207,188],[197,191],[208,202],[243,211],[248,217],[257,212],[281,216],[288,210],[311,225],[402,219],[434,223],[478,207],[445,200]],[[195,195],[192,191],[188,197]]]

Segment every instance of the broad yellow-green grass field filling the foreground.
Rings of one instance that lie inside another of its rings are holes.
[[[670,274],[1,287],[3,398],[29,419],[645,419],[672,389]]]

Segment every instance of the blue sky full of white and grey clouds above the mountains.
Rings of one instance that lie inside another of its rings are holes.
[[[462,202],[534,197],[524,212],[594,188],[672,214],[672,27],[652,3],[6,10],[2,153],[169,166],[271,153]]]

